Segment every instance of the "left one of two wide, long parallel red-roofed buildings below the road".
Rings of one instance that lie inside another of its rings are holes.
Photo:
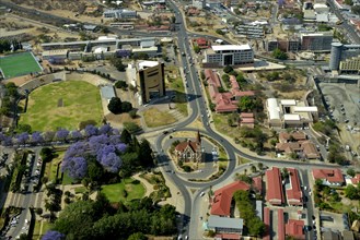
[[[283,192],[279,168],[272,167],[266,171],[266,200],[271,205],[282,205]]]

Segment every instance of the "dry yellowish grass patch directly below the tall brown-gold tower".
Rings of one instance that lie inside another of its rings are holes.
[[[176,122],[176,119],[171,113],[153,107],[143,112],[143,119],[149,128],[167,125]]]

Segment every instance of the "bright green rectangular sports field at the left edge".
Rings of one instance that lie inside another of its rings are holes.
[[[31,52],[14,53],[1,57],[0,70],[4,79],[43,71]]]

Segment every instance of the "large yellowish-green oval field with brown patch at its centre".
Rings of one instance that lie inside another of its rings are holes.
[[[85,120],[101,122],[103,117],[100,92],[82,81],[67,81],[36,88],[28,96],[27,112],[20,124],[30,124],[33,131],[65,128],[74,130]]]

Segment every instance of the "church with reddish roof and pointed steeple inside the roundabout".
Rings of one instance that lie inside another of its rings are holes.
[[[204,148],[201,145],[200,132],[197,132],[196,140],[187,140],[175,146],[177,161],[201,163],[204,160]]]

